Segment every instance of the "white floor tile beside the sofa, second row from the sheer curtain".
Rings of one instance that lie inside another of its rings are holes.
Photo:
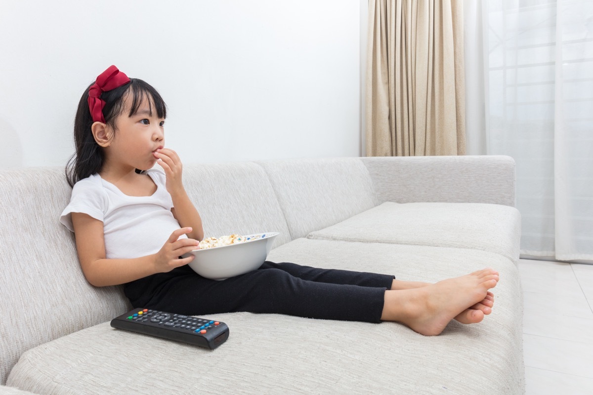
[[[593,319],[593,311],[582,294],[579,297],[573,297],[524,292],[523,302],[525,311]]]

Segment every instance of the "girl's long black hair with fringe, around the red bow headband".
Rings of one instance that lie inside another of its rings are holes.
[[[78,110],[76,110],[76,117],[74,118],[74,145],[76,152],[66,163],[66,179],[70,187],[74,187],[76,182],[90,175],[98,173],[103,166],[104,153],[101,146],[95,142],[91,126],[93,125],[93,117],[88,108],[88,90],[95,82],[85,89],[84,94],[78,102]],[[103,117],[105,123],[113,130],[116,128],[116,120],[119,115],[123,113],[123,99],[126,92],[132,95],[132,106],[128,117],[136,114],[138,108],[145,98],[148,98],[149,110],[152,114],[152,104],[154,103],[155,110],[159,118],[167,118],[167,106],[163,101],[161,95],[151,85],[138,78],[130,78],[130,82],[111,91],[103,92],[101,99],[105,101],[103,107]]]

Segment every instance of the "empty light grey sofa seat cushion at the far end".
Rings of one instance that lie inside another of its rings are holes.
[[[519,211],[508,205],[385,202],[307,238],[470,248],[517,262],[520,234]]]

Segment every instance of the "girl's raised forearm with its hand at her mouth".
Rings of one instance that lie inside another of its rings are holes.
[[[172,149],[162,148],[155,152],[158,164],[165,171],[167,178],[167,191],[173,200],[173,216],[182,227],[191,227],[193,230],[187,237],[195,240],[204,239],[202,219],[196,207],[187,196],[183,183],[181,182],[182,165],[177,153]]]

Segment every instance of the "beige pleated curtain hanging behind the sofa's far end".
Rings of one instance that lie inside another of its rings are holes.
[[[366,156],[465,155],[463,0],[369,0]]]

